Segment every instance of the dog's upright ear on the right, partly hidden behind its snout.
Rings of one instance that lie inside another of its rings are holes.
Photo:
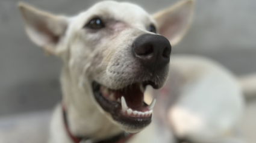
[[[153,15],[159,34],[166,37],[172,46],[186,34],[192,20],[193,5],[193,0],[184,0]]]

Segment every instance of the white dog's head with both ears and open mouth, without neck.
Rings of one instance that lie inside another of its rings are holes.
[[[143,93],[147,85],[164,85],[170,45],[187,31],[192,0],[152,16],[137,5],[114,1],[99,2],[73,17],[27,4],[19,8],[31,40],[61,57],[72,82],[89,91],[84,96],[91,96],[114,123],[128,132],[139,132],[151,123],[155,100],[147,105]]]

